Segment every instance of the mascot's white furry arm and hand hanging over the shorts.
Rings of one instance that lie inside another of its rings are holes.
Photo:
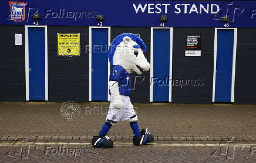
[[[111,96],[113,98],[113,107],[115,109],[122,108],[123,102],[120,98],[118,82],[109,81],[109,90],[110,90]]]

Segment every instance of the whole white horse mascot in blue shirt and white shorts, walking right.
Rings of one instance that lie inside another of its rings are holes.
[[[113,65],[109,77],[110,106],[106,122],[99,132],[99,136],[93,136],[92,145],[99,148],[112,148],[113,141],[107,135],[113,124],[119,120],[129,120],[133,130],[133,144],[143,145],[154,141],[154,136],[147,129],[139,130],[138,117],[130,102],[130,73],[141,75],[142,71],[149,70],[149,63],[144,57],[146,45],[132,33],[123,33],[117,36],[111,43],[107,52],[109,62]]]

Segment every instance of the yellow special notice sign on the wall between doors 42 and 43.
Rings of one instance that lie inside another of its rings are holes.
[[[80,33],[57,33],[58,56],[80,56]]]

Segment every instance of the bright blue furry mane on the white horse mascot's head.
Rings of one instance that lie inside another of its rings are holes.
[[[126,37],[126,36],[130,37],[133,41],[135,41],[139,45],[139,48],[141,48],[143,51],[146,51],[146,45],[142,41],[142,39],[140,39],[140,37],[132,33],[120,34],[119,36],[114,38],[114,40],[110,44],[109,51],[107,51],[107,56],[109,57],[109,63],[111,65],[113,65],[113,57],[114,57],[114,51],[116,51],[116,47],[123,41],[123,37]],[[138,47],[135,47],[135,48],[138,48]]]

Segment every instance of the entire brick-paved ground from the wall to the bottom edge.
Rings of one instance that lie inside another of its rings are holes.
[[[105,122],[108,104],[78,105],[79,117],[69,121],[60,113],[62,103],[0,103],[0,162],[256,162],[255,105],[134,104],[140,128],[149,127],[154,143],[231,142],[251,147],[64,145],[71,149],[66,154],[58,145],[6,146],[22,140],[90,143]],[[115,142],[131,143],[133,138],[129,122],[117,123],[109,135]]]

